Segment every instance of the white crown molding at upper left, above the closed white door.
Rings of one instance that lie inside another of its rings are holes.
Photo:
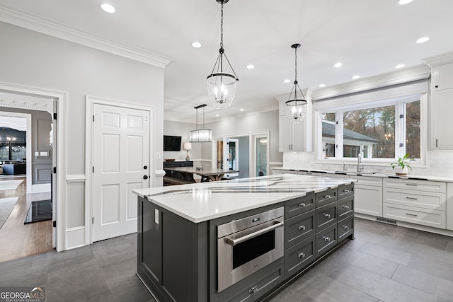
[[[0,4],[0,21],[152,66],[165,68],[166,65],[173,61],[168,57],[154,54],[147,50],[121,45],[117,42],[105,40],[102,37],[90,35],[79,30],[68,28],[62,24],[32,16],[23,11],[18,11],[15,8],[5,6],[4,4]]]

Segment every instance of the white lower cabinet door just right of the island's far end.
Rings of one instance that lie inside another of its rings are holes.
[[[356,185],[354,211],[382,217],[382,187]]]

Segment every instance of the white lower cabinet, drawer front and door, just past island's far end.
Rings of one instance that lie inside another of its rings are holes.
[[[355,212],[382,217],[382,178],[351,176],[355,183]]]

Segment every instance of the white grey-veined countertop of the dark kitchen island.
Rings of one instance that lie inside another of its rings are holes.
[[[347,178],[280,174],[151,187],[132,192],[189,221],[200,223],[302,197],[308,192],[322,192],[354,181]]]

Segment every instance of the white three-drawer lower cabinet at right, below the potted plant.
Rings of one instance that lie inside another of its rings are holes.
[[[384,179],[387,219],[447,228],[447,185],[426,180]]]

